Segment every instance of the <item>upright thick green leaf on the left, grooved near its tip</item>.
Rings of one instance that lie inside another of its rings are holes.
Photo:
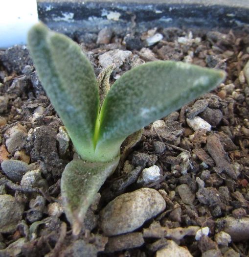
[[[97,81],[90,61],[76,43],[43,23],[30,29],[28,48],[45,92],[77,152],[88,159],[94,151],[99,110]]]

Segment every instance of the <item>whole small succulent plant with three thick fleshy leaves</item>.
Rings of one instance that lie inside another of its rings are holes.
[[[93,68],[76,43],[38,23],[29,31],[28,46],[77,153],[93,162],[73,160],[62,176],[64,207],[75,233],[94,193],[117,165],[123,140],[216,87],[225,77],[223,71],[181,62],[146,63],[116,80],[100,109]]]

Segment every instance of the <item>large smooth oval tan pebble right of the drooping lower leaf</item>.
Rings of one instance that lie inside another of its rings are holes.
[[[152,188],[140,188],[117,196],[100,213],[106,235],[132,232],[166,208],[163,197]]]

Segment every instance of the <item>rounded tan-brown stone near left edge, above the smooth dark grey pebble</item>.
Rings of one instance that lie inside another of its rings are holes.
[[[14,153],[15,149],[22,146],[27,138],[27,131],[21,124],[9,128],[4,137],[6,138],[6,147],[9,153]]]

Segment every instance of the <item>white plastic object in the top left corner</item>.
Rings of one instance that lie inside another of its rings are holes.
[[[36,0],[0,0],[0,48],[25,44],[29,28],[37,22]]]

